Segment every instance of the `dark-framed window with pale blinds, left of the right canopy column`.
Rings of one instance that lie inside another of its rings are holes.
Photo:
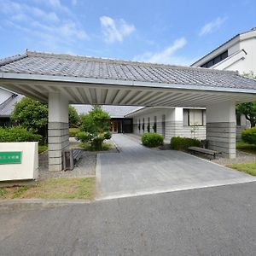
[[[205,125],[204,109],[183,109],[183,125]]]

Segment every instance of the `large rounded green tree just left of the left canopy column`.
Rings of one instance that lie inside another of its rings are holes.
[[[48,108],[44,103],[23,97],[20,102],[15,103],[11,120],[15,125],[32,129],[44,138],[47,137]]]

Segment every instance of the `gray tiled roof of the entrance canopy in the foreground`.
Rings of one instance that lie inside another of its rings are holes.
[[[29,51],[20,57],[15,56],[0,61],[0,73],[128,80],[154,84],[189,84],[248,90],[256,88],[256,80],[244,78],[235,72]]]

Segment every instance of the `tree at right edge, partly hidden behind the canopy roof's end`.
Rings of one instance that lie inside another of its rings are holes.
[[[245,73],[247,77],[256,79],[253,72]],[[244,114],[245,118],[251,122],[251,127],[256,125],[256,102],[241,103],[236,106],[236,114]]]

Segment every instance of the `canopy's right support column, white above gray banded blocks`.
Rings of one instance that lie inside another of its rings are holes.
[[[236,158],[236,106],[221,102],[207,106],[207,141],[212,150]]]

